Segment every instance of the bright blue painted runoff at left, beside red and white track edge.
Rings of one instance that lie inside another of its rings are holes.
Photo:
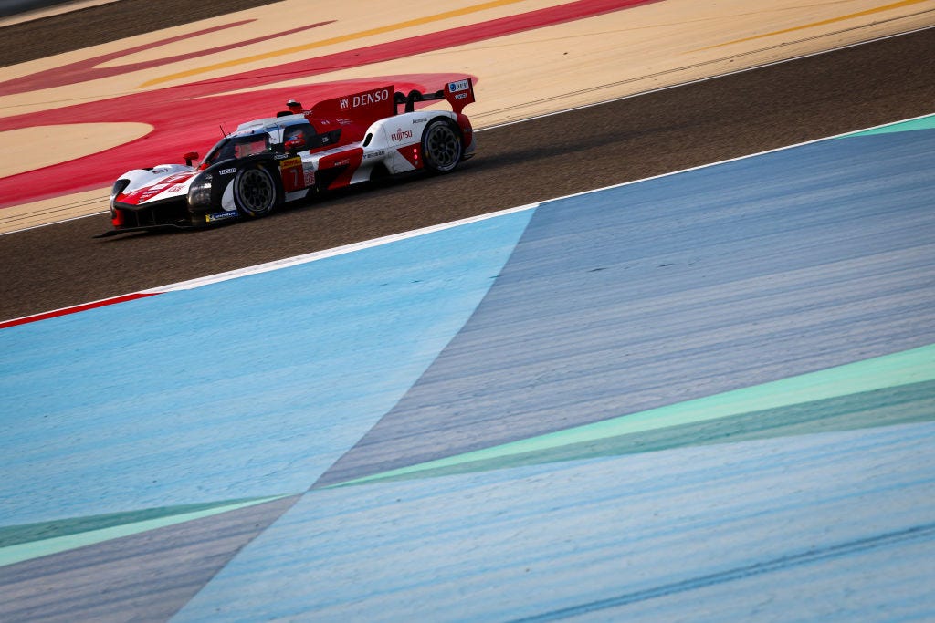
[[[532,212],[0,332],[0,525],[304,491],[461,329]]]

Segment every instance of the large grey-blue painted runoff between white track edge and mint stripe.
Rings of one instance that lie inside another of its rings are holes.
[[[321,483],[935,342],[932,153],[848,137],[540,205]]]

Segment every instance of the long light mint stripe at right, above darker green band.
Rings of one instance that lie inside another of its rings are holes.
[[[502,461],[508,457],[542,453],[561,446],[594,444],[611,437],[668,429],[794,404],[815,403],[878,389],[923,384],[933,380],[935,345],[929,345],[356,478],[332,487],[437,472],[476,461]]]

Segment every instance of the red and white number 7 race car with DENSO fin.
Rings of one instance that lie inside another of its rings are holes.
[[[415,110],[426,100],[447,110]],[[159,164],[124,173],[110,191],[113,230],[198,227],[263,217],[277,206],[359,182],[428,170],[448,173],[474,152],[465,106],[469,78],[435,93],[393,86],[325,100],[310,110],[290,100],[276,117],[241,123],[204,162]],[[399,107],[403,106],[403,112]]]

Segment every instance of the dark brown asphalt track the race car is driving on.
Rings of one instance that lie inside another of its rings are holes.
[[[85,14],[107,21],[108,10],[127,6]],[[73,20],[44,24],[54,35]],[[32,36],[11,28],[0,34]],[[453,175],[336,193],[214,230],[95,239],[109,229],[101,214],[0,236],[0,319],[932,113],[935,73],[923,60],[933,50],[935,29],[927,29],[488,129],[478,155]]]

